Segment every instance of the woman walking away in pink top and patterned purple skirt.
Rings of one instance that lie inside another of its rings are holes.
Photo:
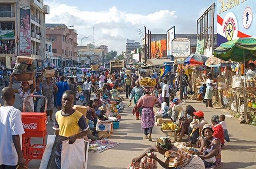
[[[138,109],[142,108],[141,110],[141,129],[144,129],[145,137],[144,139],[148,139],[152,141],[151,133],[155,123],[154,117],[154,104],[158,101],[154,95],[150,95],[151,91],[150,88],[145,88],[145,95],[138,99],[138,102],[132,109],[132,113],[134,114]],[[149,135],[149,137],[148,137]]]

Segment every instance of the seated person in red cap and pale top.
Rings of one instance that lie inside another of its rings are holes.
[[[204,119],[204,113],[202,111],[196,111],[193,114],[193,120],[188,127],[189,143],[186,145],[187,147],[191,147],[192,144],[196,144],[196,139],[200,136],[203,126],[208,124]]]

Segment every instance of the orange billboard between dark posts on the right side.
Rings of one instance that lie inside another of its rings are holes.
[[[151,58],[166,57],[166,39],[151,42]]]

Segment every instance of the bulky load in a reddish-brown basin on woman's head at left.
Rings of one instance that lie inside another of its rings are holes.
[[[12,74],[16,81],[24,82],[33,80],[35,70],[31,57],[18,56]]]

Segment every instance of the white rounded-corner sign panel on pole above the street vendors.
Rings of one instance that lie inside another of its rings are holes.
[[[188,38],[174,38],[172,40],[172,55],[174,58],[186,58],[190,55],[190,40]]]

